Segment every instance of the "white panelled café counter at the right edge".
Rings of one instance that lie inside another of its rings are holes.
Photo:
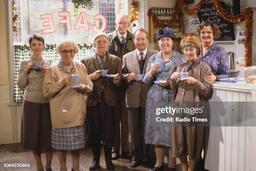
[[[249,104],[252,111],[256,111],[256,84],[215,82],[212,86],[213,102],[222,103],[227,115],[218,116],[220,122],[231,119],[233,122],[241,116],[241,122],[234,122],[231,126],[211,126],[209,146],[205,169],[210,171],[256,171],[256,127],[247,124],[246,120],[255,119],[255,115],[248,116],[248,108],[238,104]],[[212,109],[210,116],[216,115]],[[231,118],[228,118],[231,116]],[[255,123],[256,121],[251,122]]]

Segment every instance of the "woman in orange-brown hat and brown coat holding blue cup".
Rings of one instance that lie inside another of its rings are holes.
[[[180,47],[187,59],[187,63],[177,67],[177,71],[171,76],[170,85],[172,91],[176,94],[174,97],[174,107],[189,107],[186,105],[191,104],[192,107],[201,107],[202,104],[205,104],[204,102],[208,101],[210,96],[211,84],[205,79],[205,76],[211,73],[211,68],[202,60],[197,59],[201,52],[201,42],[196,37],[186,37],[180,43]],[[189,72],[189,76],[180,79],[181,72]],[[205,111],[206,109],[203,110],[201,115],[198,114],[198,116],[205,116],[207,114]],[[193,115],[192,112],[179,116],[184,117],[184,115],[190,119],[197,116],[196,114]],[[175,113],[174,116],[177,117],[178,114]],[[207,127],[196,125],[195,122],[192,122],[192,124],[187,122],[183,123],[182,126],[171,127],[172,155],[179,157],[183,171],[193,171],[197,159],[200,158],[202,149],[206,148],[204,141],[207,141]]]

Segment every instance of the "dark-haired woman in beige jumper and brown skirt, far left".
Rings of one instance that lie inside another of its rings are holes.
[[[52,59],[43,57],[44,37],[33,35],[29,39],[33,52],[31,57],[20,64],[18,87],[26,88],[23,96],[21,139],[24,149],[31,149],[38,171],[43,171],[41,149],[46,151],[46,170],[51,171],[51,116],[49,98],[44,97],[43,82]],[[40,65],[41,67],[35,67]]]

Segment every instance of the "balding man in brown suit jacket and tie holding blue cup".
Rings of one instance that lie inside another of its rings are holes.
[[[137,167],[141,162],[148,162],[154,157],[154,149],[149,152],[145,144],[145,113],[148,85],[138,79],[137,74],[145,74],[149,58],[157,53],[148,48],[148,32],[139,28],[133,34],[136,50],[123,56],[123,81],[128,84],[125,103],[128,108],[129,128],[131,134],[132,161],[131,167]]]

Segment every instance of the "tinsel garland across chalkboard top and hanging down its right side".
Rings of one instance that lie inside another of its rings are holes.
[[[246,59],[246,67],[251,66],[252,64],[252,34],[253,34],[253,9],[251,7],[246,7],[246,9],[238,15],[230,15],[228,12],[225,12],[223,7],[220,5],[219,0],[214,0],[214,6],[216,10],[225,20],[229,22],[241,22],[246,20],[246,29],[245,29],[245,53],[244,58]]]

